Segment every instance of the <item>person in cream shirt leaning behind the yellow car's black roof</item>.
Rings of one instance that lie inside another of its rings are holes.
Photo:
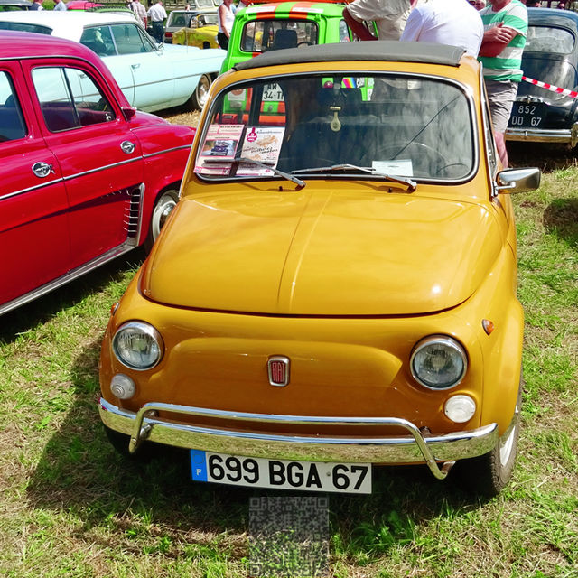
[[[354,0],[343,8],[343,18],[359,40],[399,40],[416,0]],[[375,22],[376,38],[363,24]]]

